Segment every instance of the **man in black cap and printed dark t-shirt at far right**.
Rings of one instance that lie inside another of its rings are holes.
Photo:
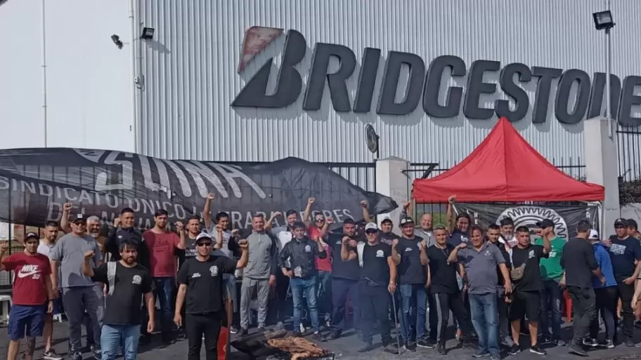
[[[626,345],[634,346],[634,312],[632,298],[634,284],[641,268],[641,243],[628,234],[628,221],[616,219],[614,222],[616,235],[610,236],[609,255],[614,270],[614,280],[621,300],[621,315],[623,317],[623,336]],[[616,340],[615,340],[616,342]]]

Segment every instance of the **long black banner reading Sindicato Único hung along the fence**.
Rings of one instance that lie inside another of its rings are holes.
[[[33,148],[0,150],[0,220],[43,226],[60,220],[63,204],[72,212],[97,215],[109,224],[124,207],[133,208],[141,228],[153,225],[158,209],[173,223],[202,217],[207,194],[212,211],[230,214],[231,226],[251,226],[252,215],[269,218],[276,211],[302,211],[316,199],[313,211],[362,220],[361,201],[372,215],[387,213],[396,203],[351,184],[320,164],[287,158],[259,165],[164,160],[127,152]],[[285,223],[284,215],[274,226]]]

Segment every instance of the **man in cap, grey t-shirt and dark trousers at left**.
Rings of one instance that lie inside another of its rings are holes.
[[[102,262],[98,243],[93,237],[86,235],[86,218],[78,214],[72,222],[72,232],[61,237],[49,251],[51,272],[60,268],[60,279],[56,279],[54,288],[63,289],[63,306],[69,322],[70,356],[72,360],[82,359],[82,318],[86,312],[93,325],[93,341],[100,344],[101,319],[104,305],[101,303],[102,289],[94,286],[88,276],[82,274],[82,262],[87,251],[93,251],[93,264]],[[58,278],[58,276],[55,276]]]

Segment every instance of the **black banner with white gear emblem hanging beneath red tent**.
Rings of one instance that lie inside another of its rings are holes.
[[[550,219],[555,223],[555,234],[563,239],[576,235],[579,220],[589,220],[597,227],[597,207],[562,205],[514,205],[514,204],[456,204],[458,213],[467,212],[472,222],[487,229],[499,224],[503,218],[512,218],[514,228],[526,226],[533,230],[536,222]]]

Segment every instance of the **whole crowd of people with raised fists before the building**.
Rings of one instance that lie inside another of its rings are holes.
[[[221,326],[244,337],[256,307],[257,331],[264,332],[271,306],[276,330],[292,313],[294,336],[306,335],[306,321],[321,342],[353,326],[363,342],[359,352],[375,349],[376,334],[387,352],[422,347],[446,354],[446,340],[455,337],[478,342],[474,357],[491,359],[500,359],[501,346],[508,354],[521,352],[522,335],[529,335],[535,354],[546,353],[542,345],[565,342],[578,355],[619,342],[635,345],[641,236],[634,220],[616,220],[608,239],[581,220],[576,237],[566,240],[545,219],[532,236],[528,227],[514,229],[510,218],[487,229],[473,225],[467,213],[454,215],[451,196],[446,225],[433,225],[430,214],[415,224],[408,203],[398,222],[401,234],[395,234],[393,220],[376,225],[363,201],[363,222],[348,218],[330,231],[332,218],[314,211],[310,198],[302,216],[284,214],[284,226],[273,226],[283,214],[257,214],[243,234],[229,229],[227,213],[212,215],[213,199],[205,199],[202,220],[178,222],[176,232],[162,209],[154,227],[141,232],[135,212],[124,208],[101,236],[99,218],[65,204],[60,225],[46,224],[43,239],[26,234],[25,251],[0,265],[15,272],[8,360],[16,359],[22,339],[25,359],[33,359],[37,337],[44,337],[44,359],[62,359],[52,344],[56,312],[67,316],[72,360],[87,351],[96,359],[136,359],[138,345],[156,331],[164,343],[186,339],[189,360],[200,358],[203,342],[207,359],[216,359]],[[65,235],[58,239],[60,231]],[[6,250],[2,244],[0,258]],[[561,332],[564,291],[574,309],[572,338]],[[277,301],[270,302],[274,294]],[[226,311],[239,313],[238,326],[228,324]],[[447,331],[451,315],[455,335]]]

